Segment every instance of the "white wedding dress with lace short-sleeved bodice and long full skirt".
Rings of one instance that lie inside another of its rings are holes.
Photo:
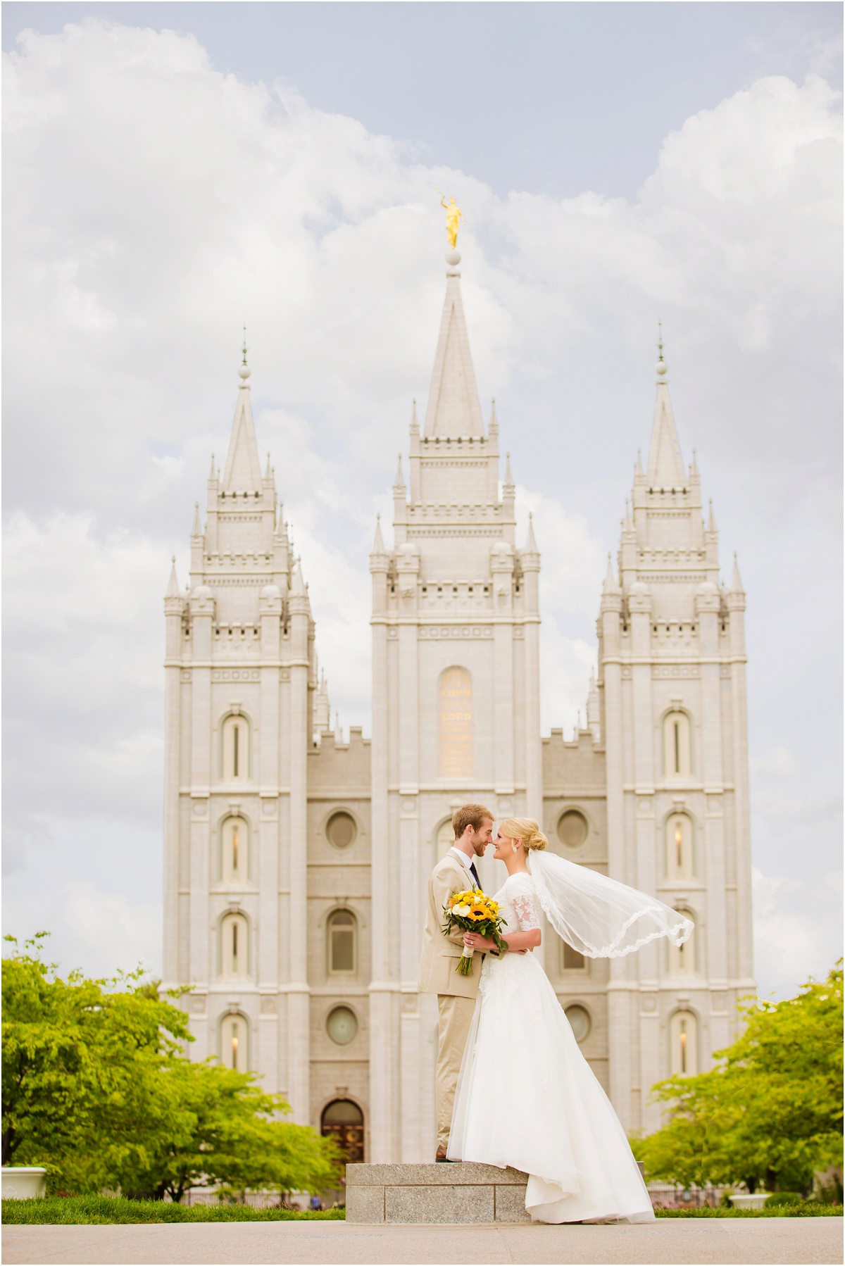
[[[495,894],[504,933],[538,928],[535,881]],[[450,1160],[528,1174],[535,1222],[650,1222],[651,1200],[613,1112],[532,953],[486,955],[455,1095]]]

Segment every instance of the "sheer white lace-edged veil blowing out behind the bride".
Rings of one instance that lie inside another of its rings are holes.
[[[692,934],[693,923],[656,896],[555,853],[531,849],[526,861],[555,932],[588,958],[618,958],[656,937],[680,946]]]

